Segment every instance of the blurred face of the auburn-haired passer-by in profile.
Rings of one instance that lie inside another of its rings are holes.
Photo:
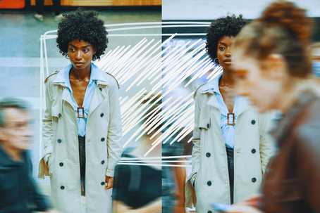
[[[235,91],[239,96],[247,96],[259,112],[278,109],[278,101],[285,98],[282,89],[286,72],[279,65],[281,61],[274,60],[269,58],[261,62],[245,55],[241,49],[233,51]],[[261,63],[264,68],[261,68]]]

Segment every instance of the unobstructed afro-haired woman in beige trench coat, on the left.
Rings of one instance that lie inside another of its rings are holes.
[[[106,35],[93,11],[63,15],[56,42],[70,65],[45,80],[39,176],[50,176],[51,198],[64,213],[111,212],[113,170],[121,155],[119,88],[92,63],[104,54]]]

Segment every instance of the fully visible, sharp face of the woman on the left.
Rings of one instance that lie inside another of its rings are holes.
[[[73,40],[68,44],[68,57],[76,70],[90,66],[94,53],[94,46],[87,41]]]

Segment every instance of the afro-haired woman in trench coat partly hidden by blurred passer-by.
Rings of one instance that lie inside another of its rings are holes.
[[[246,98],[235,96],[231,45],[245,25],[242,16],[211,22],[207,52],[222,72],[195,91],[192,174],[187,205],[214,212],[212,203],[232,204],[257,193],[273,153],[267,137],[270,116],[259,115]],[[194,192],[194,193],[192,193]]]

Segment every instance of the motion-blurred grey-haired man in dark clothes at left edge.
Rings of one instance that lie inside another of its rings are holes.
[[[0,212],[51,212],[32,178],[30,148],[32,131],[27,105],[20,100],[0,101]]]

